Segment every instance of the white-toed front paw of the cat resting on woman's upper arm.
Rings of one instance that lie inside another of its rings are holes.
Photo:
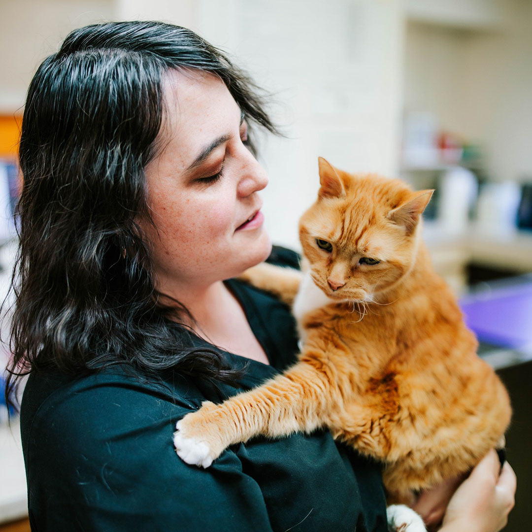
[[[225,448],[218,422],[213,420],[215,409],[217,405],[205,401],[200,410],[177,422],[173,445],[179,458],[187,464],[207,468]]]

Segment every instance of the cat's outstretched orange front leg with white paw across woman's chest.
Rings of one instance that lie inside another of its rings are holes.
[[[174,446],[182,460],[206,468],[229,445],[325,425],[329,403],[328,380],[300,362],[285,375],[220,405],[203,403],[200,410],[178,421]]]

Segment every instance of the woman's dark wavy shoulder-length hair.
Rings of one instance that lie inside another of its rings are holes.
[[[192,347],[184,326],[168,319],[187,311],[161,304],[137,224],[151,221],[144,168],[161,148],[169,69],[215,74],[250,125],[277,132],[263,93],[193,31],[161,22],[72,31],[39,66],[23,115],[6,397],[20,376],[43,369],[126,362],[147,376],[235,376],[217,351]]]

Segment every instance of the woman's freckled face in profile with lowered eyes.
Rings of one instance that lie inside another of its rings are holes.
[[[219,78],[172,70],[164,87],[162,151],[146,168],[157,231],[144,229],[157,288],[179,297],[183,287],[234,277],[269,255],[258,194],[268,177],[246,147],[247,125]]]

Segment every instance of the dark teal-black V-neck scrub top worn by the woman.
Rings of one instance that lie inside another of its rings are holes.
[[[286,256],[277,250],[273,262]],[[380,465],[328,431],[257,437],[232,445],[208,469],[177,456],[172,434],[180,418],[296,360],[288,307],[242,282],[226,282],[271,364],[224,353],[234,367],[248,363],[237,387],[217,390],[177,374],[153,383],[120,368],[76,378],[31,373],[21,432],[32,530],[386,532]]]

